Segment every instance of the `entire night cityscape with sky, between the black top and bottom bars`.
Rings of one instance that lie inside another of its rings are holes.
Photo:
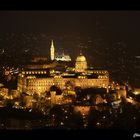
[[[139,128],[139,17],[0,12],[0,129]]]

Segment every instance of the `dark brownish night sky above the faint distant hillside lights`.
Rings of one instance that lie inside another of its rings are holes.
[[[115,32],[140,30],[136,11],[0,11],[0,19],[1,31],[74,33],[93,30],[96,22]]]

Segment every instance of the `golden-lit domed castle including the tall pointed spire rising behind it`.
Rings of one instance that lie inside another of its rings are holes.
[[[54,45],[52,41],[51,60],[55,59]],[[57,63],[57,64],[56,64]],[[106,88],[109,85],[109,73],[106,70],[87,69],[87,61],[85,56],[80,54],[76,58],[75,67],[69,68],[63,66],[63,71],[58,70],[59,62],[50,64],[40,64],[37,66],[29,65],[22,70],[18,77],[18,91],[28,94],[45,94],[51,86],[57,86],[62,91],[67,88],[67,83],[75,87],[81,88]],[[61,65],[62,67],[62,65]],[[65,71],[64,71],[65,69]]]

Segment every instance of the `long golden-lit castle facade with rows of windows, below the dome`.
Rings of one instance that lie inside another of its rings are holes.
[[[108,88],[109,85],[108,72],[104,70],[93,71],[93,73],[98,73],[98,78],[88,78],[86,76],[75,77],[71,75],[47,76],[46,73],[46,70],[22,71],[18,77],[18,90],[30,94],[45,93],[46,91],[49,91],[52,85],[56,85],[63,90],[68,82],[72,83],[74,87],[81,88]]]

